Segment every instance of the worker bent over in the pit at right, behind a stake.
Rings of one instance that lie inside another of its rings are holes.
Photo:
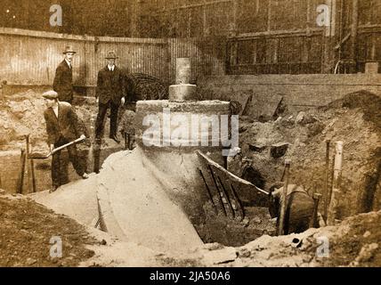
[[[279,228],[280,208],[283,197],[284,183],[272,185],[269,193],[269,211],[272,218],[277,217]],[[309,229],[313,216],[314,201],[304,188],[295,184],[288,185],[286,197],[286,212],[284,217],[284,234],[300,233]]]

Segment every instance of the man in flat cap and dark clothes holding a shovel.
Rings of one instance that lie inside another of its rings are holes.
[[[58,94],[54,91],[48,91],[43,96],[45,98],[46,110],[44,117],[50,150],[53,151],[53,149],[72,142],[78,137],[85,139],[84,130],[79,126],[77,114],[71,105],[68,102],[59,102]],[[88,175],[85,173],[85,165],[78,158],[76,145],[70,145],[68,152],[69,160],[76,170],[77,175],[84,179],[88,178]],[[55,191],[63,184],[61,182],[61,174],[64,169],[61,169],[60,155],[61,151],[57,151],[53,154],[53,189],[51,191]]]

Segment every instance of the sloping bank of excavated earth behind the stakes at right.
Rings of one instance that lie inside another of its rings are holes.
[[[291,183],[304,186],[311,194],[323,192],[326,140],[331,140],[331,163],[335,142],[344,142],[342,195],[339,217],[380,209],[381,99],[360,92],[325,108],[284,113],[276,121],[256,122],[241,118],[239,142],[242,154],[256,173],[254,183],[269,189],[280,181],[285,159],[291,159]],[[271,146],[287,142],[285,156],[273,158]],[[232,169],[243,174],[242,159]],[[234,164],[233,163],[233,164]],[[256,179],[255,179],[256,178]],[[259,184],[258,184],[259,183]],[[320,203],[322,206],[322,203]]]

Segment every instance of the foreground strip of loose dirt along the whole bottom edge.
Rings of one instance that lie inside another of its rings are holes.
[[[239,248],[211,243],[173,256],[90,230],[21,196],[0,196],[0,207],[0,266],[381,266],[381,211],[300,234],[263,235]],[[62,238],[62,258],[49,256],[52,236]]]

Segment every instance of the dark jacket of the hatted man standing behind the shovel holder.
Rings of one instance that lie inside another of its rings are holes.
[[[73,99],[73,72],[65,60],[55,70],[53,90],[58,93],[60,101]]]

